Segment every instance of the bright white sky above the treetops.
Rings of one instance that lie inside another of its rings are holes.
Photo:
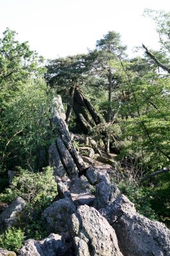
[[[145,8],[170,11],[169,0],[0,0],[0,36],[6,27],[20,42],[45,58],[58,58],[93,49],[108,31],[121,34],[123,44],[156,48],[153,22]]]

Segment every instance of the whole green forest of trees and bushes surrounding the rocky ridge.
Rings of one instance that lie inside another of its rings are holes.
[[[48,235],[40,216],[58,195],[48,157],[56,136],[52,116],[57,95],[72,136],[85,138],[82,143],[73,140],[78,154],[86,155],[90,138],[92,158],[112,166],[112,182],[137,211],[170,227],[170,13],[146,10],[145,15],[155,20],[160,49],[143,42],[138,47],[143,56],[136,52],[134,58],[127,56],[121,35],[109,31],[87,54],[45,63],[27,42],[15,40],[15,31],[4,31],[0,39],[0,211],[17,196],[26,208],[17,225],[0,228],[0,247],[19,253],[26,239]],[[78,169],[79,175],[86,171]]]

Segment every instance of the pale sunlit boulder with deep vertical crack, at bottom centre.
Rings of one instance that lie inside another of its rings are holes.
[[[70,233],[76,255],[122,256],[114,229],[93,207],[81,205],[72,214]]]

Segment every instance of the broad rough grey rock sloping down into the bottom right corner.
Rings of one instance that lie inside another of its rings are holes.
[[[169,256],[169,229],[137,213],[126,196],[118,196],[112,205],[101,209],[100,213],[116,231],[123,255]]]

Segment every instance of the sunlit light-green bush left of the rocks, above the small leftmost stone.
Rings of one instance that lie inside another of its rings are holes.
[[[53,169],[43,168],[42,173],[33,173],[19,168],[19,173],[13,178],[10,188],[1,194],[1,201],[12,201],[17,196],[26,200],[29,207],[36,209],[49,205],[57,195],[57,186]]]

